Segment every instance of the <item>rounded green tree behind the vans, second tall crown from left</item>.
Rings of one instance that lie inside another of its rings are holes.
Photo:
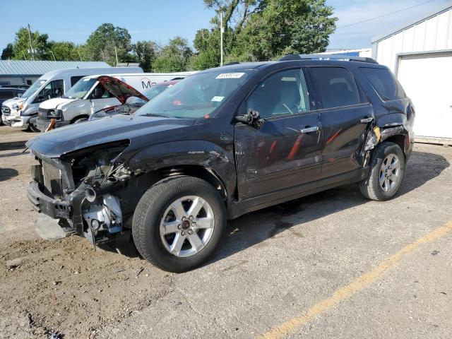
[[[117,47],[119,61],[125,61],[132,50],[131,36],[126,28],[102,23],[86,41],[86,52],[90,60],[105,61],[116,65],[114,47]]]

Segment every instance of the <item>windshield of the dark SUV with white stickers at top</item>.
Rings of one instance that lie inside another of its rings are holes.
[[[138,109],[137,115],[201,118],[212,114],[243,85],[251,71],[208,72],[189,76]]]

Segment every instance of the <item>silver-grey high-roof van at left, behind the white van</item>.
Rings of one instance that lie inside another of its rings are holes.
[[[4,123],[20,129],[30,127],[37,131],[36,119],[41,102],[61,97],[84,76],[100,73],[143,73],[140,67],[104,67],[97,69],[57,69],[45,73],[20,97],[6,100],[1,105]]]

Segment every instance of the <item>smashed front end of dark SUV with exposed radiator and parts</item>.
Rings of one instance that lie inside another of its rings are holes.
[[[59,220],[93,244],[105,242],[123,230],[122,198],[130,172],[117,155],[128,145],[119,141],[78,150],[59,158],[31,149],[32,182],[28,199],[39,213]]]

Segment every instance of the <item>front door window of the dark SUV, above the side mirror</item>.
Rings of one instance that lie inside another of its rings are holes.
[[[307,87],[302,70],[290,69],[266,78],[246,100],[248,109],[255,109],[261,117],[308,111]]]

